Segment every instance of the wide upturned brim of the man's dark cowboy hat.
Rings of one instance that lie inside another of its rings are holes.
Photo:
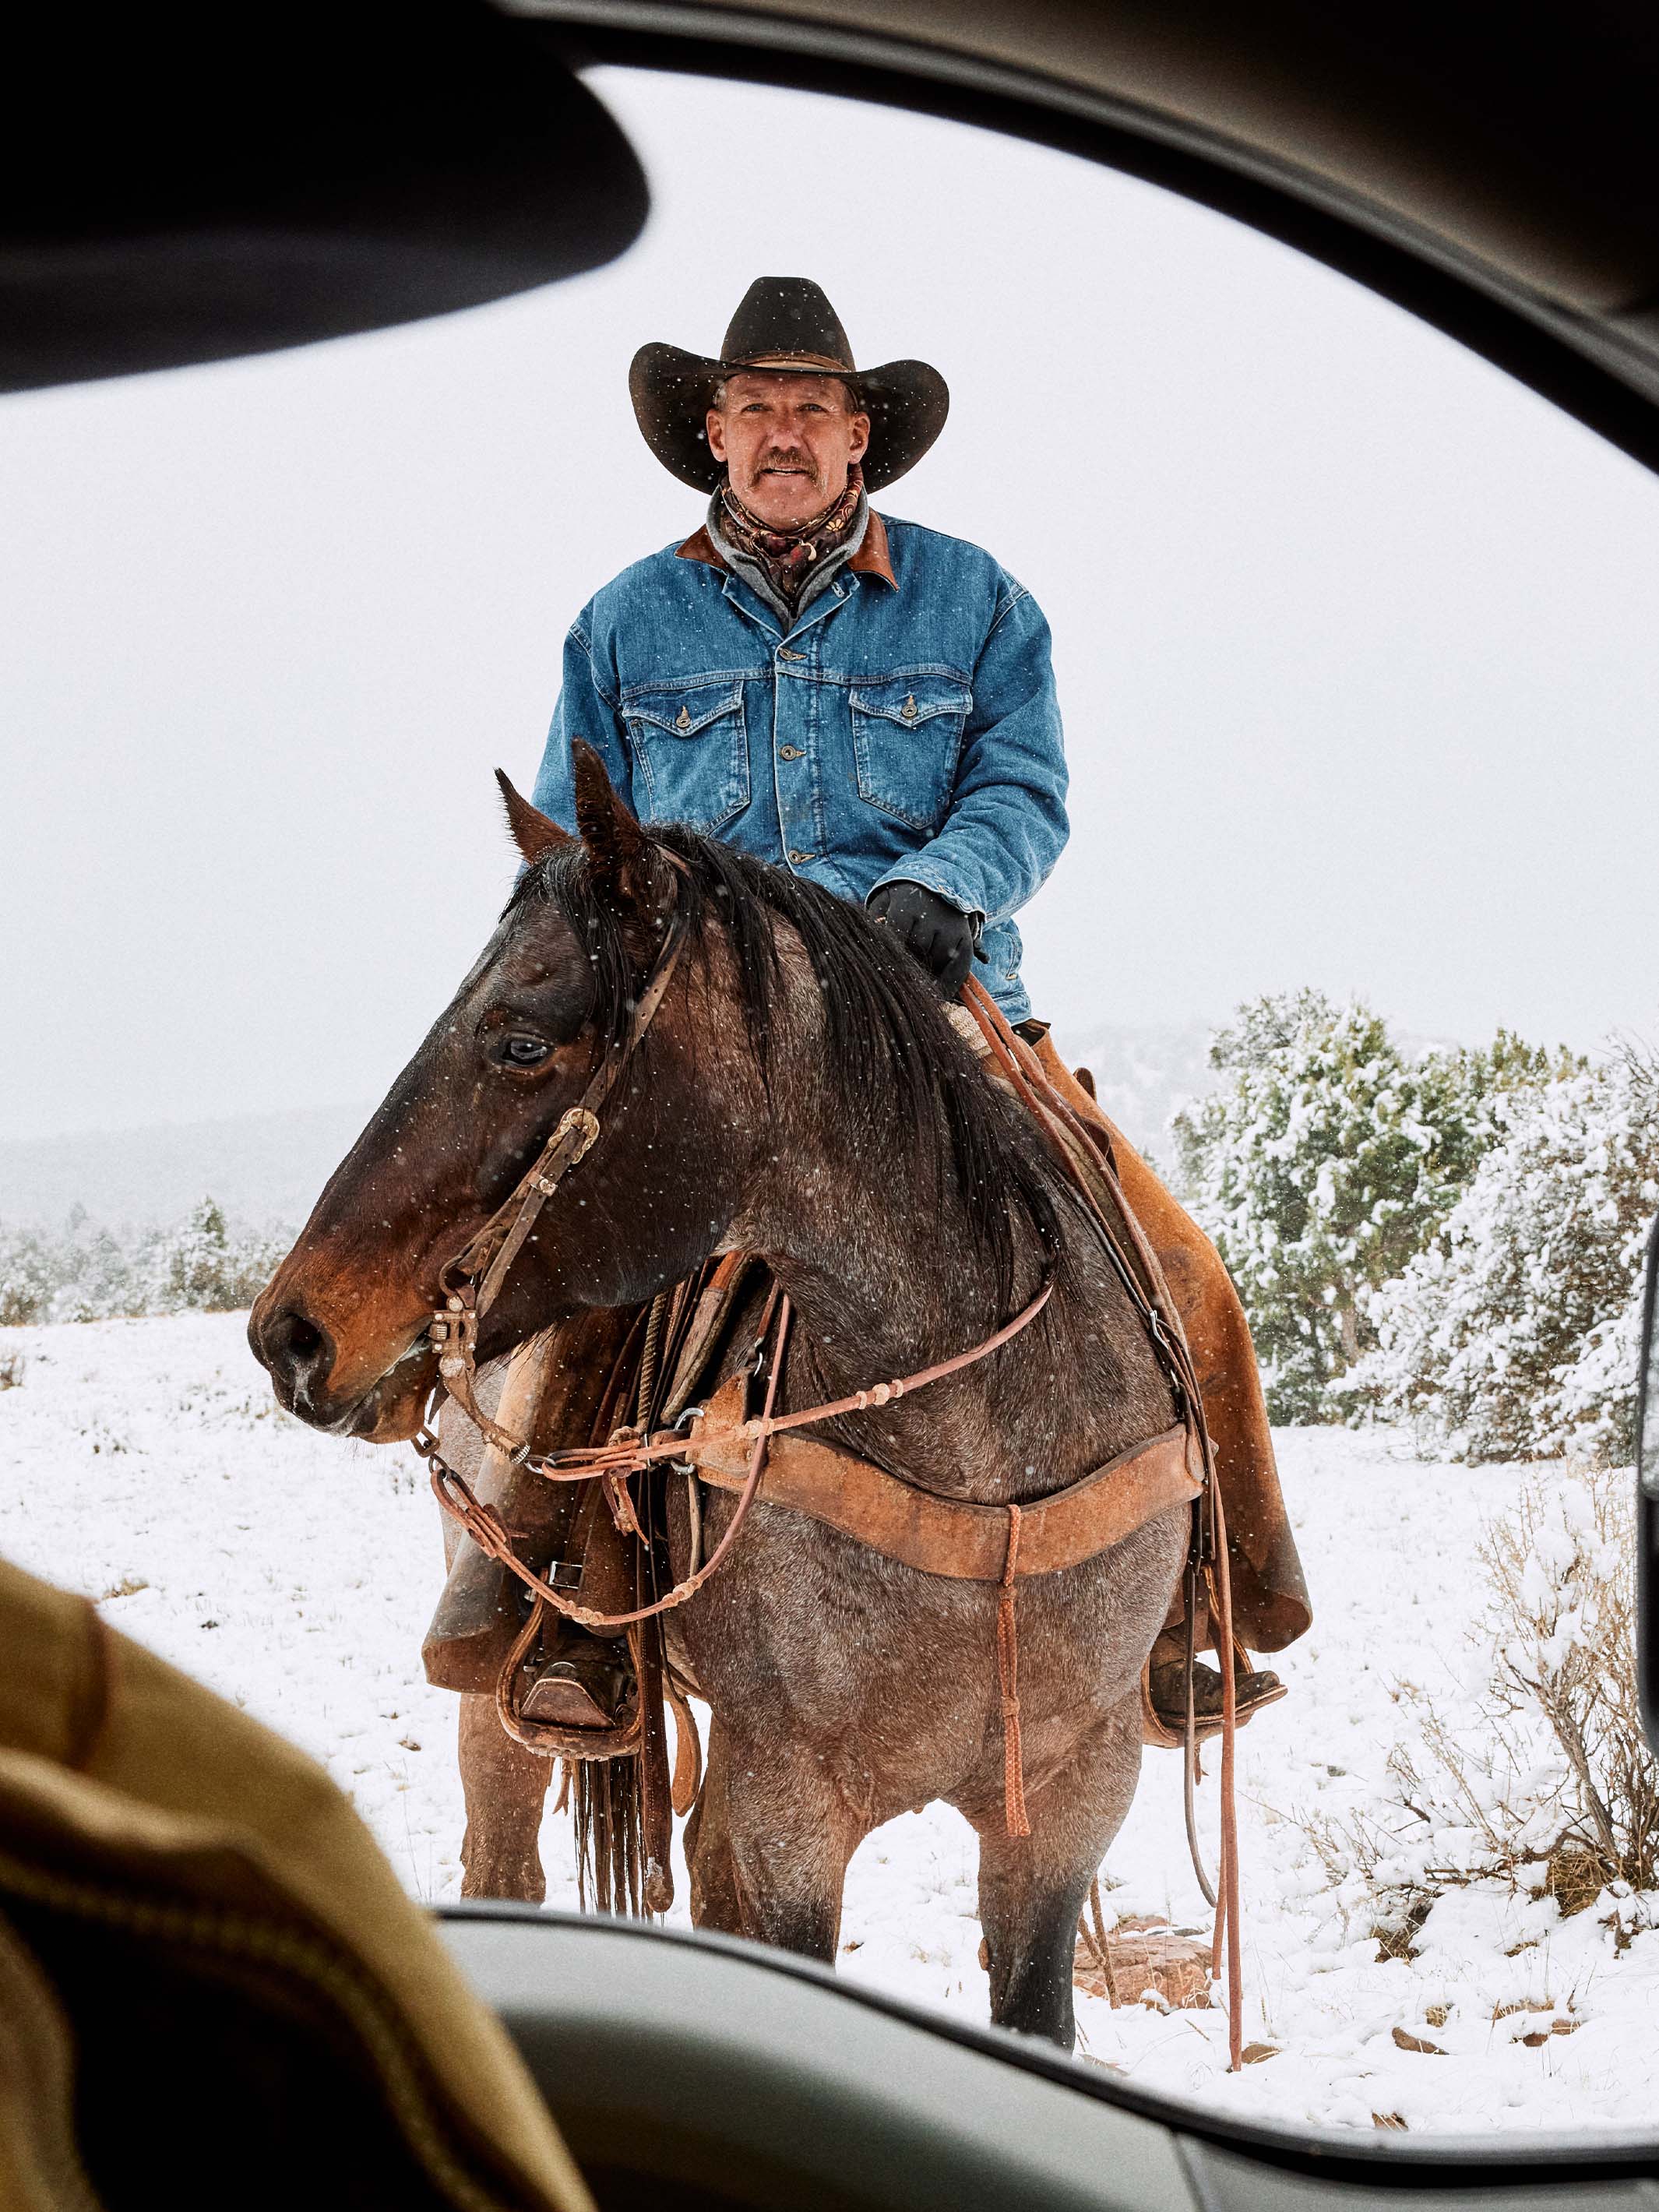
[[[657,460],[695,491],[712,491],[726,476],[723,462],[708,451],[708,405],[721,376],[739,374],[741,363],[710,361],[679,345],[641,345],[628,369],[639,431]],[[841,376],[841,369],[781,369],[783,376]],[[847,369],[869,416],[869,451],[865,453],[865,487],[880,491],[896,482],[927,453],[945,429],[951,392],[927,361],[885,361],[878,369]]]

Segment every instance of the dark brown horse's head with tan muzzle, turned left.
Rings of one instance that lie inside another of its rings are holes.
[[[624,1051],[677,900],[699,902],[586,745],[580,836],[500,781],[526,860],[513,898],[248,1325],[279,1400],[341,1436],[414,1436],[436,1378],[427,1325],[440,1270],[513,1192],[606,1055]],[[752,1060],[697,1048],[723,1024],[710,940],[692,936],[591,1155],[484,1314],[480,1360],[577,1307],[648,1298],[719,1245],[743,1186],[743,1130],[765,1117],[745,1110]]]

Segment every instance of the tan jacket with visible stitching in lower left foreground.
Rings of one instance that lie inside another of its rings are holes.
[[[591,2212],[310,1759],[0,1562],[0,2205]]]

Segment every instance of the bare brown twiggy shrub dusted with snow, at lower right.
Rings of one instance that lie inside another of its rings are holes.
[[[1498,1880],[1564,1913],[1659,1891],[1659,1767],[1641,1734],[1628,1471],[1535,1480],[1491,1526],[1486,1604],[1449,1712],[1398,1686],[1383,1794],[1303,1827],[1349,1922],[1402,1951],[1440,1893]],[[1659,1902],[1659,1900],[1657,1900]]]

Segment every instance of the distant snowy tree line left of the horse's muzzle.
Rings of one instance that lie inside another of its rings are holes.
[[[80,1206],[55,1234],[0,1223],[0,1327],[237,1312],[252,1305],[290,1241],[234,1228],[215,1199],[126,1239]]]

